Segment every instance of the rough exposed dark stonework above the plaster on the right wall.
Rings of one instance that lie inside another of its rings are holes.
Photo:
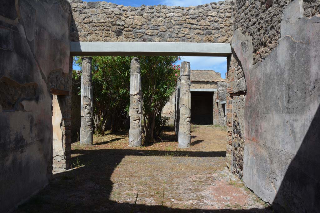
[[[252,38],[254,64],[263,61],[276,48],[281,37],[281,21],[284,9],[293,0],[236,0],[233,10],[235,29]],[[300,0],[302,2],[302,0]],[[306,17],[319,14],[319,0],[305,0]]]

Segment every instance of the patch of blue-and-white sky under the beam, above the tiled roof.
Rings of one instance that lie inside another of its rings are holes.
[[[190,62],[192,70],[214,70],[220,72],[222,78],[226,77],[227,57],[182,56],[177,65],[183,61]]]

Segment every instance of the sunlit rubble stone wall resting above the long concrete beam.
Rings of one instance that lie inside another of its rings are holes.
[[[71,41],[80,42],[229,42],[232,1],[196,7],[131,7],[68,0],[74,22]]]

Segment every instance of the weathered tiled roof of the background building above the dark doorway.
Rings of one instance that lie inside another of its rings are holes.
[[[191,81],[225,81],[221,78],[220,72],[214,72],[213,70],[191,70],[190,72]]]

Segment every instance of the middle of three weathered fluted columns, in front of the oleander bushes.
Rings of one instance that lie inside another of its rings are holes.
[[[132,58],[130,68],[130,130],[129,147],[141,146],[141,75],[138,58]]]

